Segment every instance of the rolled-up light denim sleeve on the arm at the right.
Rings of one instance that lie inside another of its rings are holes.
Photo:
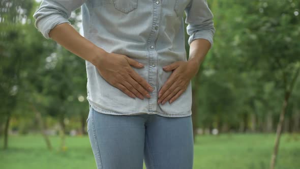
[[[214,16],[206,0],[192,0],[185,13],[187,16],[185,22],[188,24],[187,34],[190,36],[189,45],[195,39],[206,39],[212,47],[215,34]]]

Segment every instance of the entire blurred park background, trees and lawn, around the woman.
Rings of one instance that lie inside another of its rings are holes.
[[[192,80],[194,168],[300,168],[300,2],[207,3],[216,34]],[[0,0],[0,168],[96,168],[84,60],[38,32],[39,5]]]

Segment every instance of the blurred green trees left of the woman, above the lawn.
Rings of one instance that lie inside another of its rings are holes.
[[[1,1],[0,127],[12,114],[14,129],[37,128],[33,110],[54,119],[87,115],[84,60],[36,29],[32,16],[38,6]],[[80,21],[79,13],[73,12],[72,23]]]

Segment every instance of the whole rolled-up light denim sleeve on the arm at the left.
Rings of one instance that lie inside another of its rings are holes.
[[[71,12],[79,8],[86,0],[44,0],[34,13],[36,28],[46,39],[49,32],[58,24],[70,23]]]

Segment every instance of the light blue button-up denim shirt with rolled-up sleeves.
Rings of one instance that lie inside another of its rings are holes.
[[[184,22],[188,24],[189,44],[202,38],[213,45],[213,14],[206,0],[44,0],[34,14],[35,25],[49,39],[49,31],[57,24],[70,23],[71,12],[79,7],[83,36],[107,52],[144,64],[143,68],[132,68],[155,89],[149,92],[151,98],[131,98],[111,86],[86,61],[87,100],[95,110],[111,115],[192,114],[191,81],[171,104],[158,104],[158,91],[172,73],[162,67],[187,61]]]

